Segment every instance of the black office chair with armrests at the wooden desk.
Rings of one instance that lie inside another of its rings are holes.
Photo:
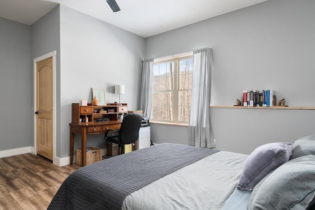
[[[139,130],[142,122],[142,115],[139,113],[127,114],[119,130],[108,129],[105,132],[106,142],[118,144],[122,148],[122,154],[125,153],[124,145],[134,143],[139,139]]]

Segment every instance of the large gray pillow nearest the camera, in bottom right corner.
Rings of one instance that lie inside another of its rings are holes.
[[[297,157],[253,189],[248,210],[306,210],[315,201],[315,155]]]

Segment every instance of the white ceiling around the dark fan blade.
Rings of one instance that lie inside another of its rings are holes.
[[[0,17],[32,25],[59,3],[142,37],[187,26],[266,0],[0,0]]]

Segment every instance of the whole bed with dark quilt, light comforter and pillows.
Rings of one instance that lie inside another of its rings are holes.
[[[250,155],[159,144],[73,172],[48,210],[315,208],[315,135]]]

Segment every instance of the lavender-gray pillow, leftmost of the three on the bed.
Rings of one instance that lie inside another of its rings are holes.
[[[244,163],[238,189],[252,190],[267,174],[289,160],[292,148],[292,142],[270,143],[256,148]]]

